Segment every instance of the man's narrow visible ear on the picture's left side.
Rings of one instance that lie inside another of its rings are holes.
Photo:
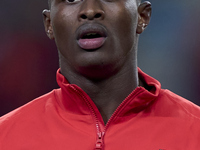
[[[53,28],[51,25],[51,18],[50,18],[50,10],[45,9],[43,10],[42,14],[43,14],[43,23],[45,27],[45,32],[50,39],[54,39]]]

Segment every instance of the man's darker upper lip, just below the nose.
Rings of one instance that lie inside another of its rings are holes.
[[[100,24],[83,24],[77,29],[77,40],[83,38],[89,33],[96,33],[102,37],[107,37],[106,28]]]

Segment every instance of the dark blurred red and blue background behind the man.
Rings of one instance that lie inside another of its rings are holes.
[[[200,1],[152,0],[138,63],[163,88],[200,105]],[[0,1],[0,116],[58,88],[58,55],[44,32],[47,0]]]

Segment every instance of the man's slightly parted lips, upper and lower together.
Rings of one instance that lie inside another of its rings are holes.
[[[99,24],[83,24],[77,29],[77,44],[82,49],[95,50],[103,46],[107,39],[107,31],[104,26]],[[89,33],[96,33],[100,37],[83,38]]]

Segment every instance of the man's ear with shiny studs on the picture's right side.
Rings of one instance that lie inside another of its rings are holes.
[[[149,24],[151,18],[151,10],[151,3],[147,1],[138,6],[138,25],[136,30],[137,34],[141,34]]]

